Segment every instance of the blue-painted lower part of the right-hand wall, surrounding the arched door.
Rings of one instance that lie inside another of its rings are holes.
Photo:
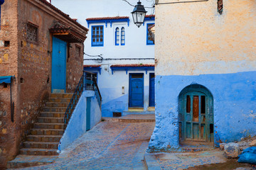
[[[256,135],[256,72],[156,76],[156,127],[149,150],[177,149],[178,95],[190,84],[213,94],[215,145]]]

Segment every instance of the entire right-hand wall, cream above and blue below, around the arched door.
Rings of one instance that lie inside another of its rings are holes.
[[[223,0],[222,15],[215,0],[156,5],[156,127],[149,150],[179,148],[178,95],[190,84],[213,95],[215,146],[256,135],[255,20],[252,0]]]

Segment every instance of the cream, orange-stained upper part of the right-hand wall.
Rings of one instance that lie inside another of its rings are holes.
[[[253,0],[156,5],[156,74],[255,71],[255,18]]]

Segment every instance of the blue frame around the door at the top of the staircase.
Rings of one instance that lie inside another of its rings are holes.
[[[64,42],[65,44],[65,64],[64,64],[64,70],[65,70],[65,77],[64,77],[64,93],[66,92],[66,77],[67,77],[67,42],[60,40],[59,38],[52,37],[52,60],[51,60],[51,92],[53,93],[53,42]]]

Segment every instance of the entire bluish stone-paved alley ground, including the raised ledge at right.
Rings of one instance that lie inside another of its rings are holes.
[[[220,149],[194,153],[146,153],[154,125],[154,115],[105,118],[60,153],[57,159],[53,158],[53,164],[25,169],[252,169],[252,166],[239,164],[235,159],[228,161]]]

